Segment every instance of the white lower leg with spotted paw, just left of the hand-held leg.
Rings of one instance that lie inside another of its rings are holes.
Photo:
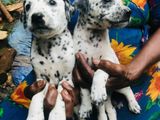
[[[90,92],[87,89],[81,88],[81,105],[79,110],[80,119],[89,118],[92,112],[92,104],[90,98]]]

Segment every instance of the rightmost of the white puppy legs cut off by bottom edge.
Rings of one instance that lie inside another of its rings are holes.
[[[104,104],[109,120],[117,120],[116,109],[112,105],[110,96],[108,96],[107,101]]]

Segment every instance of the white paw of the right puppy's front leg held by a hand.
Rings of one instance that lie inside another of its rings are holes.
[[[102,105],[107,100],[106,88],[92,85],[91,87],[91,100],[96,105]]]

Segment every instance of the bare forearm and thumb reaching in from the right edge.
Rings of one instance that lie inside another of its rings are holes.
[[[114,64],[106,60],[94,60],[97,68],[101,68],[116,77],[123,77],[127,80],[137,79],[146,68],[160,60],[160,28],[149,39],[140,53],[134,57],[128,65]]]

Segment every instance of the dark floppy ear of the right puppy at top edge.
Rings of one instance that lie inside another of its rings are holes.
[[[74,7],[80,12],[88,13],[89,9],[89,1],[88,0],[75,0],[74,1]]]

